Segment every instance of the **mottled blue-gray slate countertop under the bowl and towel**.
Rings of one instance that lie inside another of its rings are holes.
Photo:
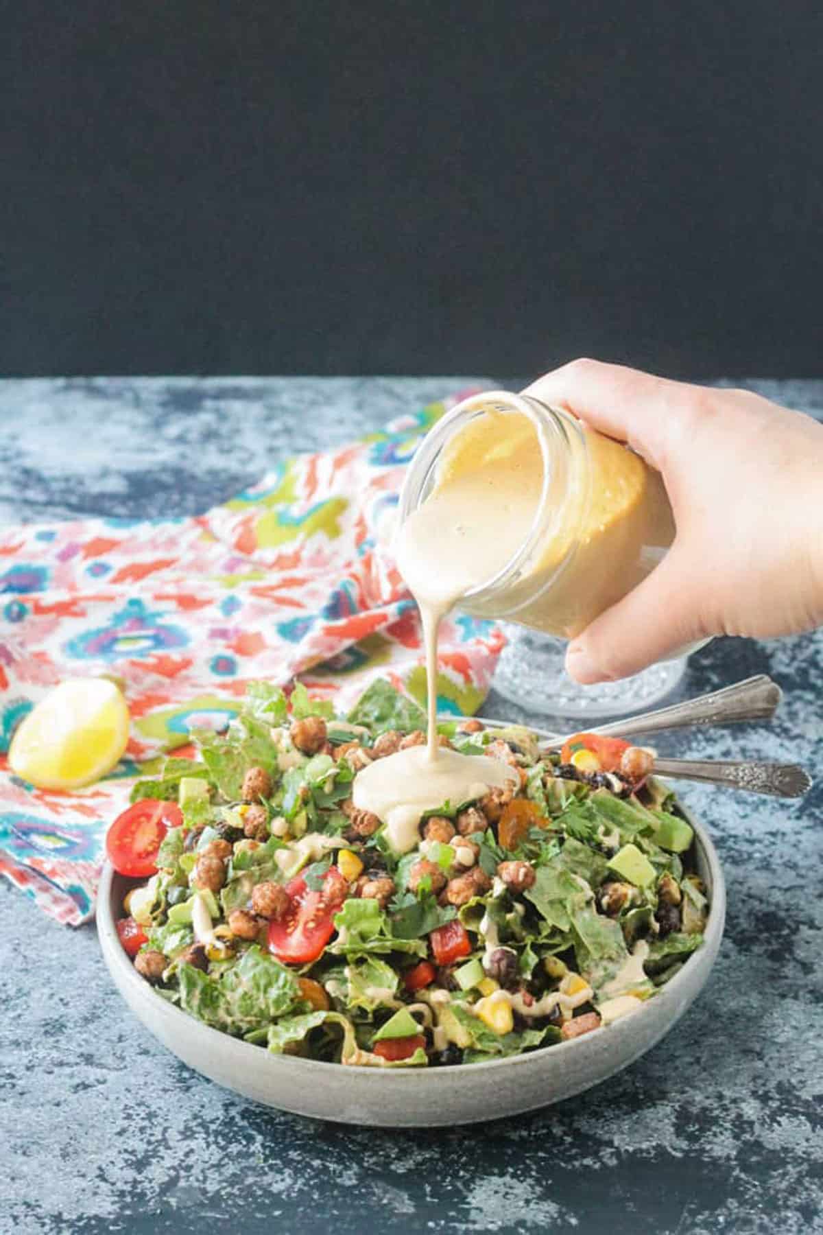
[[[344,442],[465,384],[0,383],[0,520],[199,513],[284,452]],[[750,384],[823,416],[823,382]],[[660,748],[819,768],[823,634],[718,640],[692,657],[685,690],[755,672],[786,690],[769,732],[670,735]],[[487,704],[492,715],[503,709]],[[727,934],[702,997],[600,1088],[452,1131],[318,1124],[217,1088],[133,1019],[93,926],[58,926],[4,883],[0,1229],[823,1230],[823,788],[801,804],[697,785],[684,797],[712,831],[728,879]]]

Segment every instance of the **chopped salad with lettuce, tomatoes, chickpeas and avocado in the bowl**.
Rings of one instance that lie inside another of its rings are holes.
[[[692,829],[651,756],[581,734],[438,726],[515,769],[444,802],[396,853],[358,772],[424,739],[375,682],[339,719],[301,684],[252,683],[199,758],[168,758],[114,823],[141,878],[117,923],[134,968],[189,1015],[281,1055],[373,1067],[476,1063],[631,1015],[701,946]]]

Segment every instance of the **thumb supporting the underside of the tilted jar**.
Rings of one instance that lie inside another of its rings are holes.
[[[569,674],[585,685],[611,682],[705,638],[706,580],[692,580],[675,546],[643,583],[596,618],[566,650]]]

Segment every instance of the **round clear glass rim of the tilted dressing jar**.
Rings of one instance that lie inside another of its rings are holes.
[[[495,408],[495,404],[497,404],[497,408]],[[529,556],[536,550],[538,541],[545,535],[553,464],[552,451],[547,435],[547,416],[549,417],[550,427],[553,427],[568,445],[568,438],[565,437],[565,421],[568,415],[564,415],[560,409],[550,408],[548,404],[534,398],[533,395],[515,394],[511,390],[482,390],[479,394],[469,395],[468,399],[463,399],[459,404],[457,404],[457,406],[447,411],[447,414],[442,416],[440,420],[438,420],[437,424],[428,431],[421,445],[417,447],[400,492],[399,527],[402,526],[412,510],[421,505],[421,495],[424,485],[432,474],[432,471],[437,464],[437,458],[443,450],[447,438],[453,432],[455,424],[465,420],[466,417],[471,417],[474,414],[482,415],[489,410],[519,412],[532,422],[543,458],[543,483],[540,487],[540,495],[534,508],[532,525],[528,534],[523,538],[522,545],[496,574],[490,576],[487,579],[484,579],[482,583],[479,583],[474,588],[465,592],[460,598],[461,603],[466,600],[470,601],[471,599],[495,590],[496,588],[505,587],[507,582],[517,574],[522,564],[528,561]]]

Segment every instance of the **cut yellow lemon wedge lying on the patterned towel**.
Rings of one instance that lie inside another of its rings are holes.
[[[128,706],[105,678],[69,678],[28,713],[9,766],[38,789],[79,789],[111,772],[128,741]]]

